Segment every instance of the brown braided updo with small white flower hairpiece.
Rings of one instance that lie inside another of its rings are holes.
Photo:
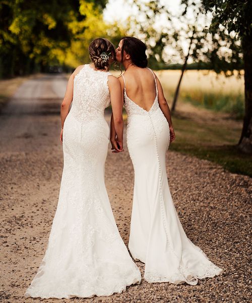
[[[94,66],[99,70],[105,70],[109,67],[111,63],[110,58],[112,58],[113,61],[115,60],[115,48],[114,45],[108,39],[94,39],[90,43],[88,51],[91,61],[94,63]],[[109,59],[103,60],[101,56],[102,53],[108,55]]]

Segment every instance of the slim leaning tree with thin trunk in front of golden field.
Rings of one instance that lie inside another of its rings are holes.
[[[180,52],[181,58],[184,57],[184,63],[174,94],[171,111],[175,110],[180,83],[189,58],[194,63],[197,63],[199,68],[204,65],[208,69],[215,70],[217,73],[223,72],[226,76],[231,76],[234,70],[239,71],[242,68],[239,41],[235,37],[231,37],[224,28],[209,30],[209,26],[207,25],[209,23],[209,16],[202,12],[199,3],[196,3],[194,0],[182,0],[181,4],[181,7],[183,7],[183,11],[179,16],[181,30],[176,48],[178,48],[178,44],[183,38],[188,40],[188,51],[186,55]],[[188,14],[189,16],[187,16],[188,8],[191,9],[190,14]],[[193,15],[194,18],[192,19],[190,15]],[[182,31],[185,31],[185,34]],[[227,52],[227,49],[229,52]]]

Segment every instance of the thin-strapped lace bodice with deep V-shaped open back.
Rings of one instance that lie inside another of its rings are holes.
[[[149,69],[149,70],[152,72],[152,74],[154,76],[155,87],[156,87],[156,97],[155,97],[153,105],[152,105],[152,107],[149,111],[144,110],[139,105],[137,105],[131,98],[128,97],[127,92],[126,92],[125,79],[124,79],[124,76],[122,75],[122,78],[123,78],[123,81],[124,81],[124,101],[125,101],[124,107],[125,107],[125,110],[126,110],[128,116],[132,116],[132,115],[150,115],[152,112],[155,112],[157,109],[159,109],[158,89],[157,89],[156,78],[155,78],[155,75],[154,75],[153,71],[151,69]]]

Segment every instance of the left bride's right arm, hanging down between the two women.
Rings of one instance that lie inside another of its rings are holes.
[[[116,136],[116,142],[113,142],[112,147],[115,151],[123,151],[122,100],[119,80],[112,75],[108,76],[108,88],[112,106],[110,139],[115,139]]]

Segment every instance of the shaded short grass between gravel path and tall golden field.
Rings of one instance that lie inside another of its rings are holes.
[[[196,156],[221,165],[232,173],[252,177],[252,156],[237,149],[240,129],[223,125],[206,125],[173,116],[176,139],[171,150]]]

